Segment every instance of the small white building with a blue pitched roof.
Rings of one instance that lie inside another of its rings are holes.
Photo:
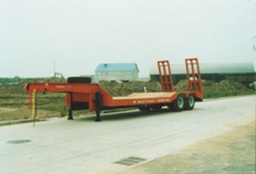
[[[136,63],[100,63],[95,70],[95,81],[138,81],[139,72]]]

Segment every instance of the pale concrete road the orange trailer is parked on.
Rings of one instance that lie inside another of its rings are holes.
[[[0,127],[0,173],[112,173],[127,157],[150,161],[255,120],[255,95],[196,103],[180,113],[111,113]],[[6,143],[29,139],[27,143]],[[145,161],[145,162],[147,162]],[[130,166],[131,167],[131,166]]]

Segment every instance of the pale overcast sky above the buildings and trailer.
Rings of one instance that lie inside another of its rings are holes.
[[[255,37],[255,38],[253,38]],[[256,0],[0,0],[0,77],[94,74],[99,63],[256,63]]]

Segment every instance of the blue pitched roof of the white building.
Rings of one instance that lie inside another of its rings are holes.
[[[139,71],[136,63],[100,63],[95,72],[132,71],[134,67]]]

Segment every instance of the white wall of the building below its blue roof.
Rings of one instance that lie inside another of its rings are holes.
[[[138,71],[122,71],[122,72],[95,72],[95,79],[99,81],[137,81]]]

